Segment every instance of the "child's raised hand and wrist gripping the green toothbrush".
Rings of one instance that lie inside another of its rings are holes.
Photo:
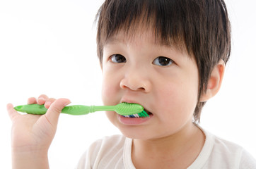
[[[18,161],[25,162],[23,158],[28,162],[36,162],[33,158],[42,160],[47,158],[47,151],[57,130],[59,113],[64,106],[70,104],[70,101],[69,99],[49,99],[46,95],[41,95],[38,99],[28,99],[28,104],[45,104],[49,109],[45,115],[30,115],[20,114],[13,109],[12,104],[7,105],[8,114],[13,123],[11,130],[13,168],[21,167],[22,164]],[[45,162],[47,161],[40,163]],[[38,163],[35,165],[38,167]],[[25,166],[28,165],[23,165]]]

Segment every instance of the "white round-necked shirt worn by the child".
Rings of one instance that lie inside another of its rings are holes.
[[[187,169],[256,169],[256,160],[245,149],[203,130],[206,140],[197,159]],[[94,142],[81,157],[78,166],[92,169],[135,169],[132,163],[132,139],[122,135]]]

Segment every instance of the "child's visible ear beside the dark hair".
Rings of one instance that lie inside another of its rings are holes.
[[[221,59],[221,61],[219,61],[219,63],[212,70],[209,78],[209,82],[207,84],[206,92],[202,94],[199,101],[202,101],[202,102],[207,101],[219,92],[219,89],[221,88],[221,82],[223,80],[224,71],[225,71],[225,63]]]

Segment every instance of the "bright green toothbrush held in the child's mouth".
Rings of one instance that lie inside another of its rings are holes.
[[[42,115],[47,112],[45,105],[27,104],[14,107],[16,111],[28,114]],[[144,111],[143,106],[139,104],[121,103],[115,106],[83,106],[73,105],[66,106],[62,109],[62,113],[70,115],[86,115],[95,111],[115,111],[120,115],[127,118],[146,118],[149,117],[148,113]]]

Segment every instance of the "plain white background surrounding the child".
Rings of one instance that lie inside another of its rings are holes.
[[[11,120],[6,104],[30,96],[66,97],[100,105],[95,46],[100,1],[0,1],[0,165],[11,168]],[[232,54],[223,86],[202,113],[202,127],[245,147],[256,158],[256,3],[227,0]],[[61,115],[50,147],[51,168],[74,168],[89,144],[119,134],[104,113]],[[1,168],[1,167],[0,167]]]

